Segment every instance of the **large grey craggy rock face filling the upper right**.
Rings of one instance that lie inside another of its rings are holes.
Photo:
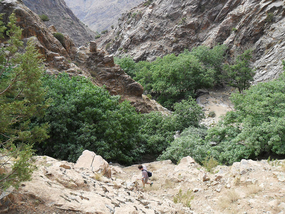
[[[285,3],[278,0],[154,0],[124,13],[98,47],[136,61],[225,44],[234,55],[253,48],[255,81],[278,76],[285,58]]]

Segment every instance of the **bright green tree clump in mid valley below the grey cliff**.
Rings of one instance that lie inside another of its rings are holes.
[[[194,97],[196,90],[213,86],[214,74],[222,70],[225,49],[225,46],[219,46],[213,51],[207,50],[212,53],[211,59],[204,57],[207,56],[205,51],[194,49],[194,52],[185,50],[178,56],[169,54],[157,58],[154,62],[135,63],[128,57],[117,60],[116,63],[144,86],[144,90],[152,92],[160,104],[171,109],[180,98]],[[209,64],[208,67],[204,65],[206,63]],[[215,67],[217,72],[212,67]]]

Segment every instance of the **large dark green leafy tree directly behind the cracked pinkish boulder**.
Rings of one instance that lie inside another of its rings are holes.
[[[119,103],[119,96],[84,77],[45,76],[43,83],[53,102],[46,116],[35,121],[50,124],[50,139],[36,145],[39,152],[73,162],[86,149],[108,161],[138,160],[139,116],[129,102]]]

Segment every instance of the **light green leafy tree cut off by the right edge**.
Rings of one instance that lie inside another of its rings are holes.
[[[227,112],[206,137],[216,144],[211,155],[229,164],[265,152],[284,155],[284,88],[281,75],[278,80],[251,86],[243,94],[232,94],[235,111]]]

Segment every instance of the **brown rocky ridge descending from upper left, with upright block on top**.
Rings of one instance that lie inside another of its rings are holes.
[[[0,13],[4,13],[3,20],[7,23],[9,14],[15,12],[18,25],[23,29],[23,39],[27,41],[32,36],[35,46],[44,58],[45,69],[50,74],[67,72],[70,76],[80,75],[90,78],[98,85],[105,85],[113,95],[121,95],[131,101],[139,112],[161,110],[166,114],[169,111],[155,101],[143,96],[143,87],[128,76],[118,65],[114,64],[113,56],[97,49],[96,43],[91,42],[88,47],[76,48],[69,35],[64,34],[64,43],[61,44],[52,33],[54,26],[46,28],[38,15],[28,9],[21,0],[4,0],[0,2]],[[5,45],[2,43],[2,45]],[[9,44],[6,44],[9,45]]]

